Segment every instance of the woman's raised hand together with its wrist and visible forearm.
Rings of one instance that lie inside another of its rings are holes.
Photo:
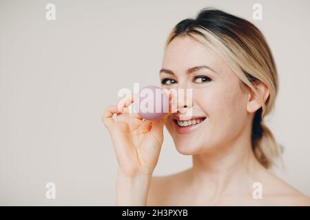
[[[172,94],[169,94],[169,101]],[[134,96],[125,97],[117,105],[109,106],[103,123],[112,137],[118,159],[116,205],[145,206],[147,193],[163,144],[163,126],[169,113],[161,120],[149,122],[137,113],[128,113]],[[169,104],[169,112],[171,107]],[[116,113],[117,120],[112,117]]]

